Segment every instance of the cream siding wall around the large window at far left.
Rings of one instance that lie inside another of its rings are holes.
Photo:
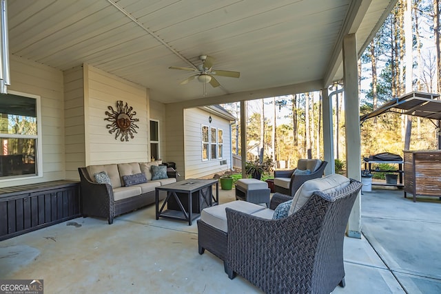
[[[63,72],[10,56],[11,85],[8,90],[41,97],[43,175],[0,182],[0,187],[65,179]]]

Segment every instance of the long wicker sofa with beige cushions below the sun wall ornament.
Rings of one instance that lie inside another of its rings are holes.
[[[176,171],[170,167],[165,167],[167,178],[152,180],[152,166],[159,165],[161,160],[79,167],[82,215],[106,218],[112,224],[116,216],[154,203],[155,187],[176,182]],[[102,171],[111,184],[96,182],[94,174]],[[136,174],[144,174],[147,182],[125,185],[124,178]],[[164,197],[160,195],[161,200]]]

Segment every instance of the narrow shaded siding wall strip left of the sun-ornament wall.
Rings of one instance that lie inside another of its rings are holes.
[[[79,180],[78,168],[85,166],[83,67],[64,73],[65,178]]]

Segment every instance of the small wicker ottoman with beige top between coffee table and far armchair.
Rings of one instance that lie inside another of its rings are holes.
[[[268,183],[255,178],[244,178],[236,182],[236,199],[252,203],[266,203],[269,207]]]

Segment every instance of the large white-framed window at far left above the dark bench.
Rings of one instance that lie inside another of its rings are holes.
[[[40,96],[0,96],[0,180],[43,176]]]

